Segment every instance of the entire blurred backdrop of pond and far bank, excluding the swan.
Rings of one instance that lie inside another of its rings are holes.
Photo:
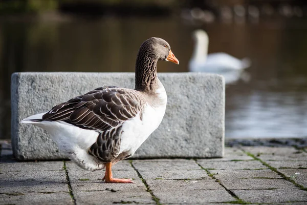
[[[307,136],[307,1],[0,0],[0,138],[10,138],[13,72],[134,72],[152,36],[180,60],[158,72],[188,72],[195,29],[209,53],[251,61],[226,87],[226,137]]]

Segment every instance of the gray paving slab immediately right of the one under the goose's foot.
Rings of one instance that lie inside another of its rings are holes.
[[[190,180],[146,180],[154,193],[156,190],[225,190],[213,179]]]

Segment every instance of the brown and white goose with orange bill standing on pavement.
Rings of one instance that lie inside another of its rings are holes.
[[[167,96],[157,77],[158,60],[179,64],[162,38],[141,45],[135,70],[135,89],[103,86],[21,121],[45,129],[59,149],[85,170],[105,168],[103,181],[113,178],[112,166],[132,156],[160,125]]]

